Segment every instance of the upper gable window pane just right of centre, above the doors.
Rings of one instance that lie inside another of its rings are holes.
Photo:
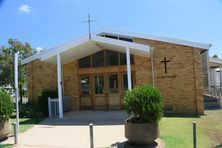
[[[106,64],[107,66],[119,65],[119,53],[115,51],[106,51]]]

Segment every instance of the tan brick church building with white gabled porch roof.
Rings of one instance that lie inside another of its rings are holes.
[[[22,61],[27,66],[28,98],[58,90],[72,110],[120,110],[124,93],[153,85],[164,98],[164,111],[203,114],[209,88],[210,44],[104,29]]]

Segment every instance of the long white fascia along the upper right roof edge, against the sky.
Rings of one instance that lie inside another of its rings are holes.
[[[168,37],[160,37],[160,36],[148,35],[148,34],[144,34],[144,33],[119,31],[119,30],[113,30],[113,29],[101,29],[101,30],[96,31],[94,33],[97,35],[102,34],[102,33],[108,33],[108,34],[110,33],[110,34],[120,35],[120,36],[125,36],[125,37],[127,37],[127,36],[128,37],[138,37],[138,38],[168,42],[168,43],[191,46],[191,47],[202,48],[202,49],[210,49],[212,46],[211,44],[186,41],[186,40],[181,40],[181,39],[173,39],[173,38],[168,38]]]

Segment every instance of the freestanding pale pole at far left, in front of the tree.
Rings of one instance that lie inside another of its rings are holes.
[[[16,134],[19,133],[19,91],[18,91],[18,56],[19,52],[15,53],[15,103],[16,103]]]

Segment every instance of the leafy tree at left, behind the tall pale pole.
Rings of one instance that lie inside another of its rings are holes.
[[[9,39],[8,46],[1,47],[0,55],[0,86],[14,88],[14,55],[20,53],[19,58],[19,94],[20,98],[24,94],[26,88],[26,70],[21,65],[21,60],[36,53],[36,49],[32,48],[29,43],[22,43],[17,39]]]

